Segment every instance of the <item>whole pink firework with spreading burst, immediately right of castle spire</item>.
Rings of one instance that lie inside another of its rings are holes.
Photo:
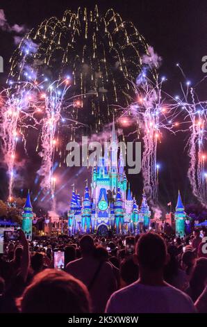
[[[165,79],[155,82],[149,80],[145,71],[137,79],[137,84],[133,86],[136,90],[135,102],[124,109],[121,115],[121,123],[127,122],[129,117],[135,120],[138,128],[130,134],[142,136],[144,151],[142,153],[142,177],[144,192],[151,200],[151,205],[158,202],[158,177],[159,164],[157,163],[157,147],[161,142],[162,129],[172,131],[169,124],[169,117],[174,116],[174,108],[167,109],[162,97],[162,86]],[[123,110],[121,108],[121,110]]]

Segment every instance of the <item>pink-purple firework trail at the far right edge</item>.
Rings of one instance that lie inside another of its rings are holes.
[[[181,69],[181,68],[180,68]],[[207,102],[199,101],[195,87],[190,86],[190,81],[184,87],[181,84],[181,96],[173,98],[176,115],[183,118],[179,131],[190,131],[190,136],[185,147],[188,148],[190,165],[188,179],[192,186],[194,196],[206,206],[206,173],[204,145],[206,139]]]

